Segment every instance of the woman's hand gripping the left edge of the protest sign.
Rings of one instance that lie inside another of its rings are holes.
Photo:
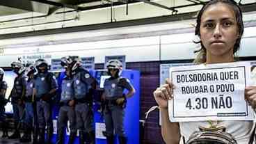
[[[154,99],[156,100],[157,104],[162,109],[167,109],[168,107],[168,100],[173,98],[173,82],[169,79],[166,79],[164,85],[154,90]]]

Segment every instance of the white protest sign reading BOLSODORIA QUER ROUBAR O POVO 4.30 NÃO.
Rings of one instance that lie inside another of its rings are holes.
[[[253,120],[244,99],[250,85],[250,63],[222,63],[171,67],[175,89],[168,102],[172,122]]]

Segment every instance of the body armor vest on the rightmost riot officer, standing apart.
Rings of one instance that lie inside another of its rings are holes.
[[[104,90],[106,93],[106,99],[112,100],[112,99],[118,99],[119,97],[122,97],[122,92],[124,88],[119,86],[119,81],[122,78],[117,79],[106,79],[104,82]]]

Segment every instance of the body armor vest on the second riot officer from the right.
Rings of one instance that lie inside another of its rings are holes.
[[[85,99],[86,94],[89,92],[90,85],[86,81],[81,81],[81,72],[74,75],[74,97],[76,99]]]

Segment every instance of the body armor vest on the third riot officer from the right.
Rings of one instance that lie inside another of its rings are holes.
[[[72,88],[72,79],[64,79],[61,84],[61,103],[67,104],[74,96],[74,89]]]

